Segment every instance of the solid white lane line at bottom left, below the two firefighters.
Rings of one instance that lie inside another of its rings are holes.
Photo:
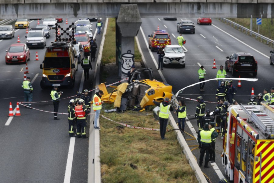
[[[67,159],[67,166],[66,166],[64,183],[70,183],[75,139],[76,139],[75,137],[70,138],[69,152],[68,152],[68,159]]]

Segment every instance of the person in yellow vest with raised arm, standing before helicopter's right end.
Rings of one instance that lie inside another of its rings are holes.
[[[153,101],[153,103],[160,107],[159,111],[159,122],[160,122],[160,136],[162,140],[165,139],[165,131],[166,131],[166,126],[168,122],[168,116],[169,116],[169,111],[173,111],[173,107],[169,104],[169,98],[165,98],[163,102],[159,103],[156,101]]]

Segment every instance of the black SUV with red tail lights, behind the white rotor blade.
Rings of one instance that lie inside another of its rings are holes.
[[[257,76],[258,63],[250,53],[233,53],[227,56],[225,63],[226,71],[231,71],[232,76],[237,73],[252,73]]]

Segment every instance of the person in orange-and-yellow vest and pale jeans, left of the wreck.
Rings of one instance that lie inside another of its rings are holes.
[[[100,112],[102,109],[102,103],[104,101],[101,101],[101,97],[104,95],[102,90],[99,90],[98,92],[95,93],[93,96],[93,103],[92,103],[92,109],[95,112],[95,117],[94,117],[94,128],[100,130],[100,127],[98,126],[98,120],[100,116]]]

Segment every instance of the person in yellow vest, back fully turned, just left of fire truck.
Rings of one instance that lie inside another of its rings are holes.
[[[205,157],[205,165],[204,168],[209,168],[208,162],[209,162],[209,151],[211,148],[211,142],[212,139],[214,139],[213,133],[209,130],[209,125],[208,123],[205,124],[204,130],[202,130],[198,134],[198,143],[199,143],[199,148],[200,150],[200,161],[199,161],[199,166],[202,167],[203,165],[203,160],[204,160],[204,155],[206,154]]]

